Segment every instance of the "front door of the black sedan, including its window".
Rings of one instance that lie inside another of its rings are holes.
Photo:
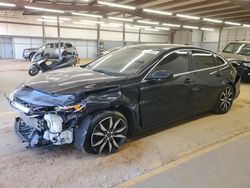
[[[168,70],[173,72],[174,78],[150,80],[146,77],[142,81],[140,112],[144,128],[159,126],[192,114],[193,74],[188,72],[189,59],[186,50],[172,52],[150,72]]]

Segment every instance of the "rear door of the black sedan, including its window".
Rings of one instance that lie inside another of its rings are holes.
[[[215,107],[224,78],[213,53],[192,50],[192,65],[195,85],[194,111],[198,114]]]

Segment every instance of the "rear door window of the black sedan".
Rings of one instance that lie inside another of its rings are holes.
[[[216,65],[213,54],[199,50],[192,51],[192,62],[194,70],[210,68]]]

